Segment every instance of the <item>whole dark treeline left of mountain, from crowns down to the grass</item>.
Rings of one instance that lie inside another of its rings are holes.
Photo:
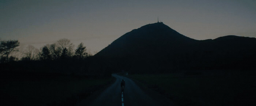
[[[20,57],[10,56],[10,53],[19,51],[18,46],[16,40],[1,41],[1,73],[110,76],[110,69],[104,61],[88,53],[82,42],[74,49],[74,44],[63,38],[41,50],[29,45],[20,51]]]

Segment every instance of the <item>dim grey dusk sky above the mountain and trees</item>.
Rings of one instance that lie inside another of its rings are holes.
[[[157,17],[196,40],[256,37],[256,0],[0,0],[0,40],[39,49],[67,38],[94,54]]]

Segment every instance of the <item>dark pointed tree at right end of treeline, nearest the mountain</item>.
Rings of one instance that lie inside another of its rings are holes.
[[[78,58],[83,59],[84,57],[87,57],[87,54],[88,53],[86,53],[86,46],[83,46],[83,43],[81,42],[75,50],[75,55]]]

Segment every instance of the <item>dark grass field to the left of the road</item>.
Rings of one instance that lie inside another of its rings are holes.
[[[74,106],[113,80],[54,76],[51,78],[1,78],[1,104],[33,106]]]

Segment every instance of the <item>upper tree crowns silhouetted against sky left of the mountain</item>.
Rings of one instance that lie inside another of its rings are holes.
[[[81,42],[76,49],[70,40],[63,38],[54,44],[47,44],[38,50],[32,45],[26,47],[26,50],[19,52],[20,57],[9,56],[12,52],[18,52],[18,40],[1,41],[0,53],[1,63],[18,60],[56,60],[60,58],[78,58],[85,59],[92,56],[86,52],[86,46]]]

